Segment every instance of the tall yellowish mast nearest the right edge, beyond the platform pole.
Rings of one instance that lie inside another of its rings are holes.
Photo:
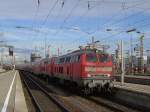
[[[144,35],[142,35],[140,37],[140,68],[141,68],[141,73],[144,73],[144,60],[143,60],[144,45],[143,45],[143,39],[144,39]]]

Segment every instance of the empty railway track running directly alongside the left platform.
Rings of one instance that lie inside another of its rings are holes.
[[[24,84],[34,102],[38,112],[70,112],[63,103],[49,94],[44,88],[36,83],[31,77],[22,75]],[[51,108],[52,107],[52,108]]]

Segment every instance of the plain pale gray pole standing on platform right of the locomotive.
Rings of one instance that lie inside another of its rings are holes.
[[[124,69],[124,55],[123,55],[123,40],[120,42],[121,46],[121,85],[124,85],[124,74],[125,74],[125,69]]]

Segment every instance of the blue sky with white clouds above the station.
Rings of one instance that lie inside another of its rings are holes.
[[[150,0],[0,0],[0,41],[13,45],[16,55],[29,57],[35,49],[44,56],[45,44],[51,55],[78,49],[91,42],[117,43],[124,50],[139,43],[144,33],[145,51],[150,49]],[[136,28],[141,34],[126,33]],[[111,29],[111,31],[107,31]]]

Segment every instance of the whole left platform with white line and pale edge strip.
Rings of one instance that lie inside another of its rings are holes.
[[[0,110],[28,112],[19,72],[16,70],[0,73]]]

